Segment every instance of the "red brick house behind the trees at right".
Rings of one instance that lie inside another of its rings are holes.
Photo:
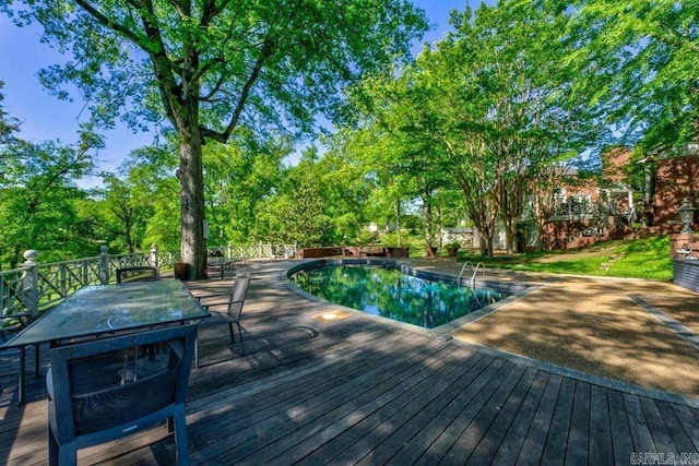
[[[697,145],[689,144],[682,151],[657,147],[649,152],[640,162],[645,171],[642,199],[635,199],[627,184],[625,167],[631,163],[630,156],[628,147],[612,148],[603,154],[600,182],[577,180],[558,190],[556,212],[544,232],[544,249],[571,249],[608,239],[679,232],[678,208],[683,200],[688,199],[695,206],[699,201]],[[576,180],[577,171],[571,169],[567,176]],[[699,208],[695,211],[695,229],[699,227],[698,218]],[[636,227],[631,228],[631,224]],[[524,215],[520,226],[521,246],[529,249],[537,235],[533,219]],[[699,251],[699,243],[694,249]]]

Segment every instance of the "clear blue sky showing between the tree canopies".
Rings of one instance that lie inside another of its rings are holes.
[[[449,13],[462,11],[466,4],[476,7],[479,0],[414,0],[425,10],[435,31],[427,33],[423,41],[434,41],[449,29]],[[60,53],[39,41],[38,26],[19,28],[0,14],[0,81],[4,82],[2,94],[5,111],[21,122],[20,136],[39,142],[60,140],[70,144],[76,142],[76,131],[86,115],[81,115],[84,103],[78,95],[73,103],[59,100],[38,83],[37,73],[42,68],[62,60]],[[419,46],[416,45],[416,50]],[[153,133],[133,134],[125,126],[108,131],[106,147],[98,154],[99,169],[114,171],[129,152],[149,144]],[[90,180],[85,180],[90,182]],[[96,181],[96,180],[93,180]]]

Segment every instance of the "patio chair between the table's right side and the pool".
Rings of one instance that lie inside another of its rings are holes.
[[[201,321],[199,326],[204,327],[227,324],[228,331],[230,332],[230,342],[235,343],[236,339],[233,332],[233,325],[236,325],[238,327],[238,337],[240,338],[240,346],[244,355],[245,344],[242,343],[242,332],[240,330],[240,314],[242,313],[242,306],[245,304],[245,297],[248,292],[249,284],[250,274],[238,273],[230,291],[197,297],[208,311],[213,311],[211,312],[211,318]],[[222,312],[223,310],[225,310],[225,312]],[[199,368],[199,343],[197,343],[194,361],[196,367]]]

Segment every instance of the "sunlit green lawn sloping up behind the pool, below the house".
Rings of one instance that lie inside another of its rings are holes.
[[[608,241],[574,251],[522,253],[513,258],[466,253],[460,254],[460,259],[518,271],[662,280],[673,277],[667,237]]]

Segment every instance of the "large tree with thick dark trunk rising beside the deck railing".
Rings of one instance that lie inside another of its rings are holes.
[[[39,22],[47,39],[74,55],[42,73],[59,97],[71,81],[103,124],[128,105],[132,126],[165,118],[176,131],[190,278],[204,276],[206,261],[202,144],[226,143],[240,124],[309,130],[318,110],[333,113],[344,84],[407,56],[426,28],[405,0],[25,3],[0,9],[20,24]]]

